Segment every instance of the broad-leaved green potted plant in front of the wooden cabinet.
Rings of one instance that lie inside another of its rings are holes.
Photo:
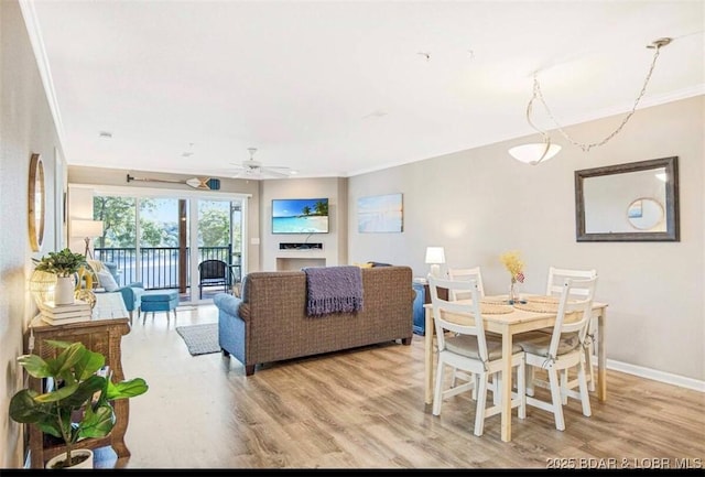
[[[143,394],[148,386],[142,378],[112,382],[110,371],[104,369],[105,356],[82,343],[46,343],[62,349],[56,358],[22,355],[18,362],[34,378],[51,378],[53,386],[43,393],[18,391],[10,401],[10,418],[63,440],[66,453],[54,467],[63,468],[76,464],[73,454],[79,440],[110,434],[116,424],[111,401]]]

